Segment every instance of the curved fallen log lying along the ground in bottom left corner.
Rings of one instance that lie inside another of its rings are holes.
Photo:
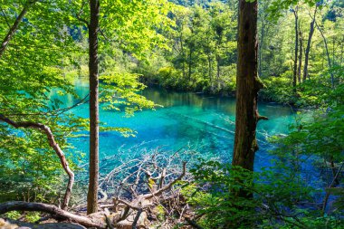
[[[81,215],[74,215],[60,209],[55,205],[47,205],[43,203],[27,203],[23,201],[12,201],[0,204],[0,215],[11,211],[33,211],[52,214],[54,218],[68,219],[77,224],[84,226],[93,226],[97,228],[105,228],[104,224],[95,223],[90,218]]]

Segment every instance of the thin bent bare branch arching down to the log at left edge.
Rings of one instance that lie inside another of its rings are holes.
[[[12,119],[5,118],[5,116],[1,114],[0,114],[0,121],[4,121],[16,129],[18,128],[39,129],[45,133],[45,135],[48,137],[49,145],[53,148],[57,156],[60,158],[61,165],[69,177],[68,185],[63,197],[63,202],[62,202],[62,209],[66,209],[72,196],[72,186],[74,184],[74,173],[72,172],[72,169],[68,166],[68,161],[66,157],[64,157],[64,153],[62,149],[53,138],[52,130],[48,126],[45,126],[41,123],[35,123],[35,122],[30,122],[30,121],[15,122]]]

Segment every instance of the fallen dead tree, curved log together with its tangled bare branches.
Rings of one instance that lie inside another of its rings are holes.
[[[189,224],[194,218],[181,195],[181,186],[191,180],[187,173],[187,150],[176,152],[144,151],[127,162],[107,158],[118,165],[100,178],[100,212],[85,216],[84,206],[74,207],[74,214],[54,205],[8,202],[0,205],[0,215],[9,211],[38,211],[60,220],[97,228],[173,228]],[[190,155],[189,155],[190,156]],[[49,217],[49,216],[48,216]],[[190,228],[185,226],[183,228]]]

